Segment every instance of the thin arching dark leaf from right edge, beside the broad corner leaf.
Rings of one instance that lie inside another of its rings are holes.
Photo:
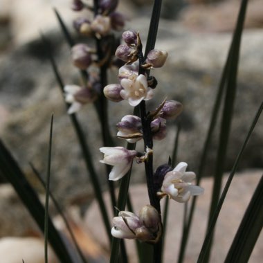
[[[263,102],[262,102],[262,104],[260,105],[260,107],[259,107],[259,109],[258,109],[258,111],[257,111],[257,114],[255,115],[255,118],[254,118],[254,120],[253,120],[253,123],[251,124],[251,127],[250,127],[250,129],[249,129],[249,131],[248,131],[248,134],[246,135],[246,138],[245,138],[245,140],[244,140],[244,143],[243,143],[243,145],[242,145],[242,147],[241,147],[241,149],[240,149],[240,151],[239,151],[239,154],[237,155],[237,158],[236,158],[236,160],[235,160],[235,163],[234,163],[234,165],[233,165],[233,168],[232,168],[232,170],[231,170],[231,172],[230,172],[230,175],[229,175],[229,177],[228,177],[228,181],[226,182],[226,185],[225,185],[225,187],[224,187],[224,190],[223,190],[223,192],[222,192],[222,194],[221,194],[221,198],[219,199],[219,202],[218,202],[218,204],[217,204],[217,207],[216,207],[216,209],[215,209],[215,212],[214,212],[214,214],[212,215],[212,219],[211,219],[210,225],[209,225],[209,227],[208,227],[208,231],[207,231],[207,234],[206,234],[206,238],[205,238],[205,240],[204,240],[204,242],[203,242],[203,246],[202,246],[201,252],[200,252],[200,254],[199,254],[199,259],[198,259],[198,262],[199,262],[199,263],[203,262],[203,260],[205,260],[205,258],[206,258],[206,253],[207,253],[207,251],[208,251],[208,248],[210,247],[210,239],[212,238],[212,234],[213,234],[213,232],[214,232],[214,228],[215,228],[215,224],[216,224],[217,218],[218,218],[218,216],[219,216],[219,212],[220,212],[221,207],[222,207],[222,205],[223,205],[223,203],[224,203],[224,199],[226,198],[226,194],[227,194],[228,189],[229,189],[229,187],[230,187],[230,183],[231,183],[231,181],[232,181],[232,179],[233,179],[233,176],[235,175],[235,172],[236,172],[236,170],[237,170],[237,166],[238,166],[238,164],[239,164],[240,158],[241,158],[241,156],[242,156],[242,154],[243,154],[243,152],[244,152],[244,149],[245,149],[245,147],[246,147],[246,145],[247,145],[247,143],[248,143],[249,138],[251,137],[251,134],[252,134],[252,132],[253,132],[253,129],[255,128],[255,125],[257,124],[258,119],[260,118],[260,115],[261,115],[261,113],[262,113],[262,110],[263,110]],[[262,203],[261,203],[261,205],[262,205]],[[262,216],[262,215],[261,215],[261,216]],[[262,224],[262,221],[261,221],[261,224]],[[249,242],[249,240],[248,240],[248,242]],[[253,239],[251,240],[251,242],[253,242]],[[243,251],[243,252],[244,252],[244,251]],[[231,262],[231,263],[232,263],[232,262]]]

